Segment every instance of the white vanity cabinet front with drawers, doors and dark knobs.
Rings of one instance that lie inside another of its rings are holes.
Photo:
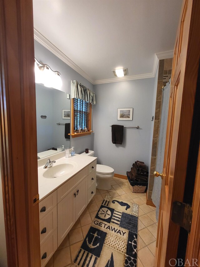
[[[96,193],[96,160],[39,202],[41,267]]]

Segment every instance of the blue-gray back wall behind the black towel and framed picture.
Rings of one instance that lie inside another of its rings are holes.
[[[155,78],[94,85],[97,105],[93,109],[94,151],[98,163],[126,175],[133,162],[147,165],[150,153],[151,118]],[[118,121],[118,108],[132,108],[133,121]],[[124,128],[122,145],[112,143],[112,124],[140,126]]]

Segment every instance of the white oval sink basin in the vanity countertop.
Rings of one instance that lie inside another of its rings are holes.
[[[63,163],[56,166],[52,166],[47,168],[47,170],[43,173],[43,177],[45,178],[57,178],[61,177],[68,172],[71,172],[74,168],[74,164],[72,163]]]

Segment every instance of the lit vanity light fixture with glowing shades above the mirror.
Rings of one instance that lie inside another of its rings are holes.
[[[35,82],[46,87],[60,89],[63,85],[58,71],[53,71],[47,64],[41,64],[35,58]]]

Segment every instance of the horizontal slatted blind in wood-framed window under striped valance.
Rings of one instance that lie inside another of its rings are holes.
[[[89,129],[90,104],[84,100],[74,98],[74,131],[79,131],[79,127],[84,130]]]

